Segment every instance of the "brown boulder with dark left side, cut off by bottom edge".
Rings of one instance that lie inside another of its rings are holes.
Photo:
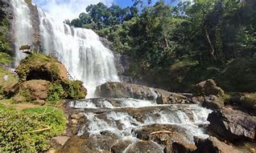
[[[208,139],[196,139],[196,153],[242,153],[217,138],[210,136]]]

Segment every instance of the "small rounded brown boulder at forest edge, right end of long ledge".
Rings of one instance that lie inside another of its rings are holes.
[[[220,87],[217,87],[217,84],[213,79],[208,79],[196,84],[196,86],[193,87],[193,94],[223,96],[224,91],[222,91]]]

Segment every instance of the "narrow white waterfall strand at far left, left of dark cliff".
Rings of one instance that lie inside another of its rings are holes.
[[[10,0],[14,8],[14,66],[18,66],[21,59],[25,57],[19,47],[32,44],[31,11],[23,0]]]

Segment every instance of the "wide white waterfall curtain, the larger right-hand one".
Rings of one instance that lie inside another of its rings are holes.
[[[72,77],[85,83],[88,97],[93,97],[98,85],[119,81],[114,54],[101,43],[93,30],[55,22],[42,10],[39,10],[39,18],[44,53],[56,51]]]

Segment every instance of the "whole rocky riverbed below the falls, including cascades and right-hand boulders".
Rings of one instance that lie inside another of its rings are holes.
[[[56,151],[255,152],[255,117],[229,105],[213,80],[196,90],[204,95],[105,83],[104,98],[65,103],[68,139]]]

